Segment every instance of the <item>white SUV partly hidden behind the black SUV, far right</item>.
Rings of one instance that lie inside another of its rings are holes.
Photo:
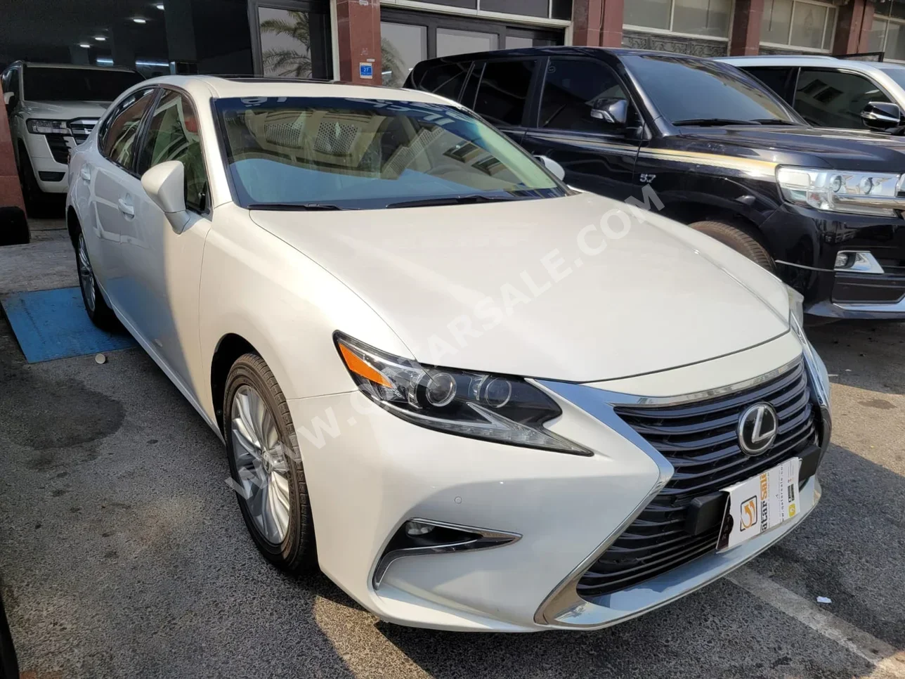
[[[905,64],[795,54],[719,61],[766,83],[816,128],[890,130],[905,125]]]

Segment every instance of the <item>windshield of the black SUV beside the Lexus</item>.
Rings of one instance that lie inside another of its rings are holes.
[[[672,54],[635,54],[624,62],[673,125],[802,124],[776,96],[728,64]]]

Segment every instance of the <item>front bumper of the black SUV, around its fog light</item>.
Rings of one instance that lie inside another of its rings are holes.
[[[761,230],[780,277],[805,296],[807,313],[905,320],[905,221],[783,206]],[[883,273],[836,271],[842,251],[872,253]]]

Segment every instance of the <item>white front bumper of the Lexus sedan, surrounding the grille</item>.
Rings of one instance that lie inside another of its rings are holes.
[[[765,374],[800,354],[789,333],[697,366],[567,387],[599,394],[605,408],[614,387],[652,397],[698,393]],[[594,406],[555,397],[563,416],[550,428],[595,455],[440,434],[409,425],[358,393],[292,400],[321,569],[363,607],[403,625],[510,632],[602,627],[736,568],[793,530],[819,497],[812,478],[801,492],[801,514],[775,531],[633,588],[593,601],[579,598],[574,583],[585,564],[662,489],[672,467]],[[416,517],[519,539],[488,550],[395,559],[376,587],[387,542]]]

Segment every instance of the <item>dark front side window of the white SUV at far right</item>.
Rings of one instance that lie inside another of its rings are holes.
[[[861,111],[870,101],[889,101],[872,81],[854,73],[803,68],[795,110],[818,128],[864,128]]]

